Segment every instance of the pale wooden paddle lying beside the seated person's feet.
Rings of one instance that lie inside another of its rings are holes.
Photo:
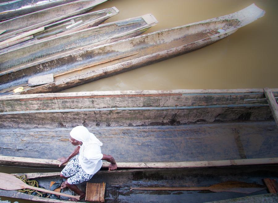
[[[40,192],[46,192],[46,193],[50,193],[50,194],[54,194],[54,195],[62,195],[65,197],[71,197],[71,198],[75,198],[77,200],[80,199],[80,196],[68,195],[68,194],[61,193],[61,192],[55,192],[52,190],[47,190],[44,188],[37,188],[37,187],[31,186],[31,185],[27,185],[22,180],[20,180],[19,178],[15,177],[11,174],[0,173],[0,189],[20,190],[20,189],[25,189],[25,188],[37,190]]]

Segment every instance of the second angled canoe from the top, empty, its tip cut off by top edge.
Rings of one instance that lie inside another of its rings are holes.
[[[6,32],[0,35],[0,40],[3,41],[22,32],[85,13],[105,1],[107,0],[78,0],[3,21],[0,23],[0,30],[6,30]]]

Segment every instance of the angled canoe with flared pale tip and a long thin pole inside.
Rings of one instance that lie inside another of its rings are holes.
[[[78,52],[69,52],[51,61],[41,61],[39,65],[22,66],[18,71],[13,70],[6,76],[1,76],[0,81],[12,81],[26,74],[53,73],[56,75],[54,82],[37,87],[25,87],[22,94],[62,91],[200,49],[229,36],[238,28],[263,15],[264,11],[252,4],[230,15],[94,48],[84,47]],[[62,67],[66,67],[67,70],[63,74],[57,73]]]

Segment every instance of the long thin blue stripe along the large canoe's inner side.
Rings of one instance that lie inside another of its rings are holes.
[[[181,110],[194,108],[227,108],[227,107],[264,107],[268,104],[227,104],[211,106],[177,106],[177,107],[121,107],[121,108],[84,108],[84,109],[53,109],[53,110],[33,110],[1,112],[0,115],[25,114],[25,113],[57,113],[57,112],[82,112],[82,111],[133,111],[133,110]]]

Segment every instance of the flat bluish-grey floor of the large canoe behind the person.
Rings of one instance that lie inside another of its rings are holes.
[[[70,130],[1,129],[0,154],[53,160],[67,157],[75,148],[69,142]],[[102,152],[112,154],[118,162],[209,161],[278,156],[275,122],[89,130],[103,142]]]

